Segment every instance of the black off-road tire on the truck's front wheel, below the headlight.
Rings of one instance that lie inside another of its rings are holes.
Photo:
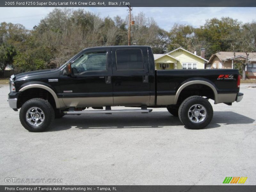
[[[44,121],[38,125],[33,126],[29,124],[26,120],[27,111],[30,108],[39,108],[44,113]],[[20,108],[20,123],[23,125],[25,129],[30,132],[43,132],[50,127],[54,120],[54,109],[52,105],[44,99],[34,98],[26,101]]]

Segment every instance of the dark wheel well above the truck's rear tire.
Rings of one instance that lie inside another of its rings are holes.
[[[188,85],[180,92],[177,104],[181,104],[182,101],[193,95],[206,97],[207,99],[212,100],[215,99],[214,92],[211,87],[204,84],[192,84]]]

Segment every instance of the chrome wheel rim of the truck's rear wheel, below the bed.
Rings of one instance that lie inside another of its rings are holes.
[[[203,105],[195,104],[188,109],[188,118],[193,123],[200,123],[206,117],[206,109]]]

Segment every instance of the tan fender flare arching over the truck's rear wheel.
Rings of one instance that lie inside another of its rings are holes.
[[[175,98],[174,98],[174,104],[177,104],[177,101],[178,101],[178,98],[180,96],[180,92],[186,88],[187,86],[189,85],[192,85],[192,84],[203,84],[203,85],[207,85],[208,87],[210,87],[214,93],[214,104],[217,104],[218,103],[218,92],[216,90],[216,88],[210,84],[209,82],[207,81],[202,81],[202,80],[194,80],[194,81],[189,81],[187,83],[184,83],[180,86],[180,88],[178,89],[178,91],[176,92],[176,95],[175,95]]]

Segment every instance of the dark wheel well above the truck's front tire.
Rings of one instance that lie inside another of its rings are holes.
[[[41,99],[47,100],[52,105],[53,108],[56,108],[55,100],[52,94],[46,91],[45,89],[41,89],[41,88],[31,88],[31,89],[22,91],[17,101],[17,108],[20,108],[27,100],[30,100],[33,98],[41,98]]]

